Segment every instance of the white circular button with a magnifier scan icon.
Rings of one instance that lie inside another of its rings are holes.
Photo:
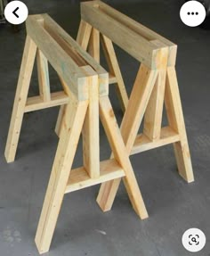
[[[189,252],[199,252],[206,244],[206,235],[198,228],[190,228],[182,235],[182,244]]]

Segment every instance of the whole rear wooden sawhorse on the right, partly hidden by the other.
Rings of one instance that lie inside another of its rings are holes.
[[[84,49],[89,45],[90,53],[99,62],[101,38],[110,74],[114,73],[117,81],[121,77],[113,43],[141,62],[129,102],[126,105],[123,101],[121,134],[127,153],[174,144],[179,174],[187,182],[194,181],[175,71],[177,45],[101,1],[82,3],[81,18],[77,41]],[[119,96],[125,99],[122,84],[118,84]],[[164,101],[169,125],[162,128]],[[143,117],[143,132],[138,135]],[[119,180],[101,185],[97,202],[103,211],[110,210]]]

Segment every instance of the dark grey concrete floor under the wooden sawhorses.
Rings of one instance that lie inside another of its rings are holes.
[[[76,2],[26,1],[30,13],[48,12],[73,37],[80,19]],[[99,186],[68,194],[46,255],[188,256],[192,253],[182,247],[181,239],[190,227],[206,234],[206,247],[195,255],[210,255],[210,32],[184,26],[179,4],[174,2],[113,5],[179,45],[177,73],[196,182],[188,185],[178,176],[172,146],[135,155],[131,161],[149,219],[137,218],[124,186],[120,186],[113,209],[107,213],[102,213],[95,202]],[[25,29],[13,34],[10,26],[0,27],[1,256],[38,255],[34,237],[58,144],[53,131],[58,108],[31,112],[23,121],[16,161],[7,164],[4,160],[24,40]],[[138,64],[118,49],[117,55],[130,92]],[[51,74],[55,90],[58,79],[52,70]],[[35,74],[30,95],[37,93]],[[112,88],[110,97],[120,121],[122,113]],[[109,153],[101,130],[101,159],[108,158]],[[81,151],[74,166],[80,164]]]

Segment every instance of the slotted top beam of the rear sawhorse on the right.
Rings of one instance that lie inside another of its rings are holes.
[[[167,65],[174,66],[177,45],[117,12],[108,4],[101,1],[81,3],[81,18],[151,70],[158,69],[161,48],[169,47]],[[157,41],[162,46],[157,45]]]

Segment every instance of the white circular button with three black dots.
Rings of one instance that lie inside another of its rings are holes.
[[[182,22],[189,27],[197,27],[206,19],[206,9],[198,1],[189,1],[180,10]]]

